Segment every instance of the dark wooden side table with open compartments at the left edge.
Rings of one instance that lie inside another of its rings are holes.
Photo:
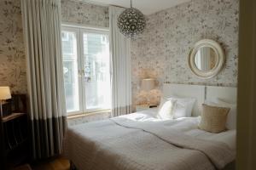
[[[28,122],[26,113],[12,113],[0,119],[1,157],[3,169],[15,167],[29,156]]]

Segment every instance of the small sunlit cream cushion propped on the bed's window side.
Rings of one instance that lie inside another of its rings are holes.
[[[161,99],[157,117],[160,119],[173,119],[173,108],[177,100]]]

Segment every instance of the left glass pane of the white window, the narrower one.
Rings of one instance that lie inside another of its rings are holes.
[[[62,31],[62,54],[67,112],[79,111],[77,35]]]

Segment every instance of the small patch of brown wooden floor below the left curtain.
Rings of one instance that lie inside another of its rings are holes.
[[[33,170],[69,170],[69,167],[69,161],[61,157],[32,165]]]

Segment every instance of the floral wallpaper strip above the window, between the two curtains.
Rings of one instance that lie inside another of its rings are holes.
[[[102,7],[78,0],[61,0],[63,22],[85,26],[108,27],[108,7]]]

